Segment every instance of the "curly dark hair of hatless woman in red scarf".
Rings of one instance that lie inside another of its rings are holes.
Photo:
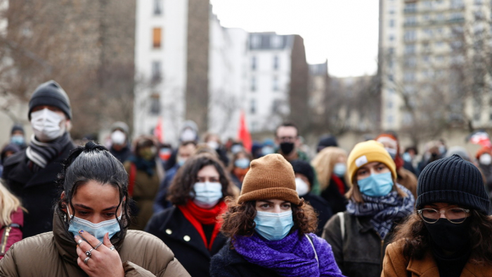
[[[229,187],[233,186],[233,184],[222,162],[214,155],[202,153],[190,157],[176,172],[176,176],[174,176],[171,186],[169,186],[167,200],[174,205],[186,205],[188,200],[193,199],[190,192],[193,191],[193,185],[198,181],[198,172],[207,165],[214,166],[216,171],[219,172],[219,183],[222,185],[222,195],[224,195],[221,199],[233,196],[229,190]]]

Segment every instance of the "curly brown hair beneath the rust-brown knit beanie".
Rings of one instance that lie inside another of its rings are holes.
[[[238,204],[233,198],[226,199],[228,210],[222,215],[221,233],[234,240],[235,236],[252,236],[254,233],[254,217],[257,216],[256,201]],[[311,205],[301,199],[299,205],[291,203],[294,226],[291,232],[299,230],[299,236],[314,233],[318,228],[318,217]]]

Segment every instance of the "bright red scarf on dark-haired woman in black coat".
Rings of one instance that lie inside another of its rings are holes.
[[[195,229],[202,236],[203,243],[210,251],[212,250],[212,244],[214,244],[214,240],[219,234],[219,230],[222,226],[222,221],[219,221],[217,217],[219,217],[223,212],[226,211],[227,205],[224,201],[217,203],[212,209],[204,209],[198,207],[195,202],[188,201],[186,205],[179,205],[179,210],[183,213],[184,217],[190,221],[190,223],[195,227]],[[203,231],[202,224],[211,225],[215,224],[214,231],[212,232],[212,237],[210,238],[210,242],[207,243],[207,238],[205,237],[205,232]]]

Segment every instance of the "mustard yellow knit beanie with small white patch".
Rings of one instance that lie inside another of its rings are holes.
[[[354,146],[347,159],[349,178],[352,183],[354,183],[354,176],[357,169],[370,162],[381,162],[386,165],[391,171],[391,176],[396,180],[396,165],[388,151],[384,149],[382,143],[378,141],[364,141]]]

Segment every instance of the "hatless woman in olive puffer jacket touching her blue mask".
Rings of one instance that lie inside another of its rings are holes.
[[[128,230],[128,175],[106,148],[73,150],[59,183],[53,231],[15,243],[0,276],[189,276],[161,240]]]

